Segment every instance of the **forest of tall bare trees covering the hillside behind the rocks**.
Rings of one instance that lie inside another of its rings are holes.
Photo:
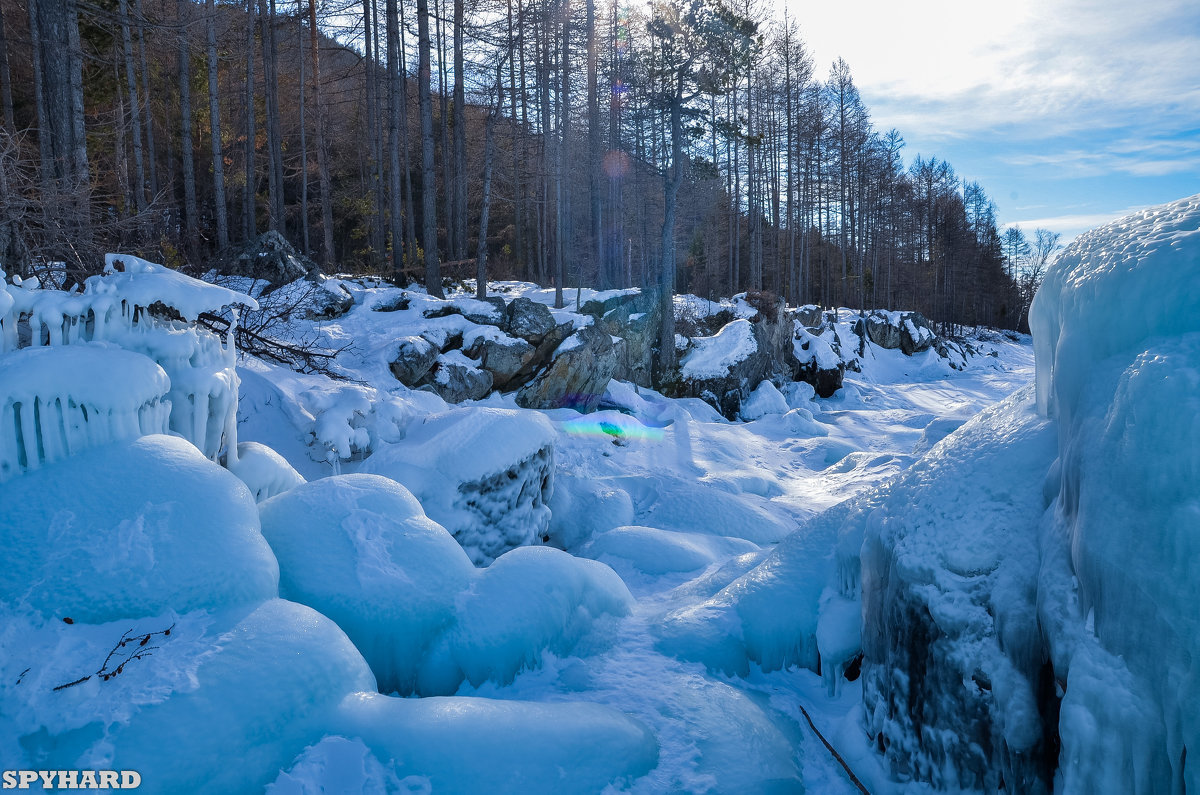
[[[850,67],[818,73],[752,0],[0,0],[0,50],[11,273],[204,263],[274,229],[433,292],[478,273],[1024,322],[1033,255],[983,187],[906,168]]]

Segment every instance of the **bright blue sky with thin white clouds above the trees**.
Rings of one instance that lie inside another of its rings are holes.
[[[774,0],[850,64],[905,159],[949,161],[1001,227],[1074,235],[1200,193],[1198,0]]]

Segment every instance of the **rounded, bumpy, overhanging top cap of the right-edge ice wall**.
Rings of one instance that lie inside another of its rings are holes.
[[[1200,330],[1200,195],[1076,238],[1046,273],[1030,328],[1038,407],[1068,416],[1104,359]]]

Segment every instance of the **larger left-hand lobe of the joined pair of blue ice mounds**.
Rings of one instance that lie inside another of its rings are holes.
[[[384,692],[413,693],[475,573],[462,548],[403,486],[372,474],[306,483],[260,510],[282,596],[336,621]]]

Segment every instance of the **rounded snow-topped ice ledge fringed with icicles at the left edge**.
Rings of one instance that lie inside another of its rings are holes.
[[[85,449],[166,434],[170,382],[102,342],[0,354],[0,483]]]

